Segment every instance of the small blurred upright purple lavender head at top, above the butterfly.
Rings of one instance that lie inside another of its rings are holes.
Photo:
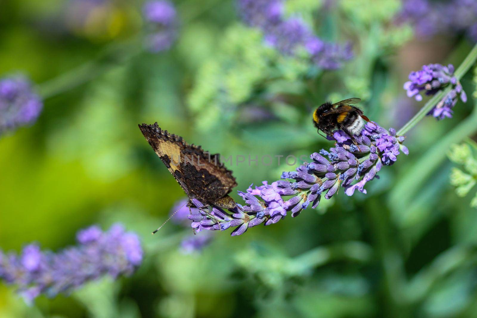
[[[177,13],[172,2],[148,1],[143,6],[143,16],[148,24],[147,47],[152,52],[170,49],[177,38]]]

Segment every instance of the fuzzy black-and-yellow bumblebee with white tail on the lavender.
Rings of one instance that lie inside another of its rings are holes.
[[[328,136],[333,135],[333,130],[341,129],[356,144],[354,135],[361,133],[364,122],[369,122],[369,118],[364,116],[363,111],[358,107],[352,106],[361,101],[361,98],[350,98],[344,101],[332,104],[330,101],[321,104],[313,112],[313,124]]]

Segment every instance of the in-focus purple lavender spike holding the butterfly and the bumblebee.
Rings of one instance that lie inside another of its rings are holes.
[[[191,226],[197,232],[235,227],[231,235],[237,236],[261,223],[266,226],[277,223],[288,213],[295,217],[310,205],[316,208],[322,196],[330,199],[340,187],[346,195],[353,195],[355,190],[365,194],[364,186],[377,177],[383,165],[394,164],[400,152],[409,153],[402,144],[404,136],[397,136],[393,128],[385,130],[374,122],[365,125],[356,138],[357,145],[342,131],[336,131],[333,138],[334,147],[311,154],[310,163],[303,163],[296,171],[284,172],[283,180],[271,185],[264,181],[255,188],[250,185],[246,192],[239,191],[245,205],[237,204],[228,211],[212,206],[209,211],[193,199],[198,211],[187,216],[192,220]]]

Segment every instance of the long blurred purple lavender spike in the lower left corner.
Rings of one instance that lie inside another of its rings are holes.
[[[0,278],[32,302],[40,294],[69,293],[104,275],[130,275],[142,263],[138,236],[121,225],[106,232],[91,226],[79,231],[76,239],[78,246],[57,253],[41,251],[36,244],[25,246],[20,255],[0,251]]]

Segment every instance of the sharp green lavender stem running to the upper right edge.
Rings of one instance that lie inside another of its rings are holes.
[[[469,68],[476,62],[477,60],[477,44],[474,48],[469,52],[464,62],[460,64],[455,72],[455,76],[458,81],[464,76],[465,73],[469,70]],[[403,135],[407,133],[411,128],[415,126],[421,119],[425,117],[427,113],[442,99],[444,96],[450,92],[451,86],[449,85],[445,90],[438,92],[434,95],[427,103],[425,103],[424,107],[417,112],[409,122],[404,124],[404,126],[397,132],[398,135]]]

